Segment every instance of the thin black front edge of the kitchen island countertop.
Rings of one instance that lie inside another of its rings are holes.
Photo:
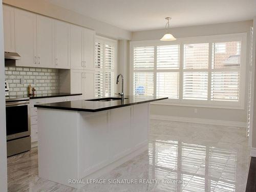
[[[69,108],[69,107],[61,107],[61,106],[50,106],[50,105],[44,105],[44,104],[35,104],[34,107],[36,107],[36,108],[45,108],[45,109],[56,109],[56,110],[68,110],[68,111],[100,112],[100,111],[105,111],[105,110],[122,108],[124,106],[131,106],[131,105],[136,105],[136,104],[159,101],[159,100],[163,100],[163,99],[168,99],[168,97],[145,100],[145,101],[139,101],[139,102],[133,102],[133,103],[126,103],[126,104],[120,104],[120,105],[114,105],[114,106],[108,106],[106,108],[98,108],[98,109],[83,109],[83,108],[72,108],[72,107]],[[70,101],[66,101],[66,102],[70,102]],[[97,102],[97,101],[91,101],[91,102]]]

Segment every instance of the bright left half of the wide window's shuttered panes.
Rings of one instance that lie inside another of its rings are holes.
[[[134,48],[134,87],[135,95],[168,95],[178,98],[179,94],[179,45]]]

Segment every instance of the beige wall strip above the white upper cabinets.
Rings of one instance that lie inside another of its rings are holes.
[[[94,29],[97,35],[114,39],[131,39],[130,31],[100,22],[99,20],[84,16],[82,14],[64,9],[44,0],[3,0],[4,4],[17,8],[32,11],[38,14],[46,15],[56,19],[63,20],[82,27]]]

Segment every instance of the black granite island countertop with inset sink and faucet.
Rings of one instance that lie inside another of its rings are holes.
[[[120,98],[118,96],[113,96],[113,97]],[[124,98],[125,99],[123,100],[123,102],[121,100],[92,101],[87,99],[87,100],[75,100],[75,101],[36,104],[35,107],[47,108],[47,109],[58,109],[58,110],[70,110],[70,111],[99,112],[104,110],[121,108],[123,106],[168,99],[168,97],[140,96],[140,95],[138,96],[129,95],[129,96],[124,96]]]

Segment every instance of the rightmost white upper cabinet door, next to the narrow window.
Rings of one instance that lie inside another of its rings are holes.
[[[94,44],[95,44],[95,31],[90,29],[84,29],[83,33],[83,61],[84,69],[94,69]]]

